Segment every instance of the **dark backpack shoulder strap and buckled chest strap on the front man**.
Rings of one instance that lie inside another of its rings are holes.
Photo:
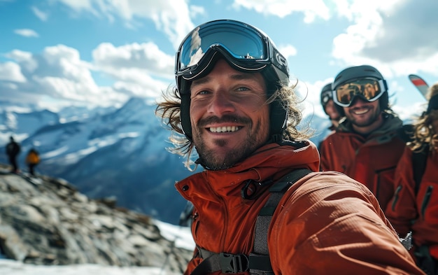
[[[250,255],[213,253],[203,248],[197,248],[199,255],[204,260],[193,270],[190,275],[202,275],[222,270],[224,274],[236,274],[249,271],[250,274],[274,274],[268,251],[268,230],[272,215],[283,197],[290,188],[303,176],[311,173],[310,169],[295,169],[279,181],[271,185],[271,195],[264,207],[260,210],[255,221],[255,236],[253,253]]]

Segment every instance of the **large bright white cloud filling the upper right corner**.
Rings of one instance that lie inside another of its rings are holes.
[[[372,64],[386,76],[425,71],[438,76],[438,2],[336,1],[353,24],[334,38],[333,56],[347,65]]]

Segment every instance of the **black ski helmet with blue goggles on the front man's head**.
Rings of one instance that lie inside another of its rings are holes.
[[[227,34],[227,30],[232,32]],[[205,31],[204,31],[205,30]],[[204,32],[203,32],[204,31]],[[235,36],[239,35],[239,39]],[[246,44],[246,38],[250,39]],[[191,41],[191,43],[188,43]],[[205,43],[205,45],[204,45]],[[232,45],[227,45],[232,43]],[[236,54],[233,49],[248,49],[250,45],[264,45],[266,55],[253,58]],[[229,47],[228,47],[229,46]],[[193,52],[195,57],[199,51],[200,58],[188,60],[182,64],[181,58],[186,57],[183,51]],[[176,84],[181,96],[181,126],[185,136],[192,140],[192,125],[190,122],[190,85],[192,80],[206,76],[219,58],[225,59],[230,66],[239,71],[260,72],[267,85],[267,96],[270,97],[276,90],[288,85],[288,62],[278,52],[273,41],[263,31],[236,20],[213,20],[195,27],[184,38],[178,52],[176,52]],[[182,64],[182,65],[181,65]],[[283,102],[280,97],[270,104],[269,110],[269,136],[274,141],[283,136],[288,120],[288,102]]]

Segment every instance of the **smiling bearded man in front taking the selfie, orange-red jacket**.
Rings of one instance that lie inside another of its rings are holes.
[[[188,165],[196,151],[204,167],[176,183],[194,206],[185,275],[422,274],[364,185],[318,172],[286,59],[259,29],[216,20],[192,30],[156,112],[172,151]]]

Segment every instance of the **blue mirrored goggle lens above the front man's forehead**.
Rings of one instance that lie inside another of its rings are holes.
[[[267,59],[267,40],[256,29],[239,22],[209,22],[197,27],[180,45],[176,73],[199,64],[206,52],[222,47],[229,55],[241,60]]]

